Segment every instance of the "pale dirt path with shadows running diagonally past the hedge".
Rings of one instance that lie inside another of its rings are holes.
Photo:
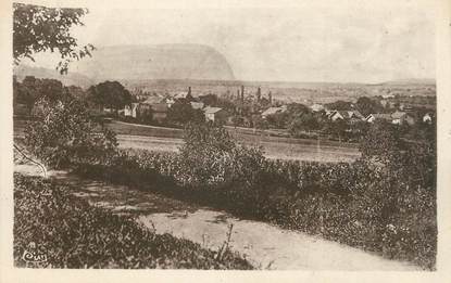
[[[17,165],[15,171],[39,175],[30,165]],[[105,184],[50,171],[50,178],[71,183],[74,194],[92,205],[133,214],[137,221],[156,233],[172,233],[217,249],[231,236],[229,246],[262,269],[291,270],[421,270],[419,267],[388,260],[358,248],[325,241],[304,233],[288,231],[259,221],[235,218],[226,213],[199,207],[159,194],[141,192],[125,185]]]

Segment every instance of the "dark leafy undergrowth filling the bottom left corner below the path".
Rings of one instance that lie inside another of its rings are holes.
[[[90,206],[40,178],[14,176],[14,262],[37,245],[50,268],[252,269],[187,240],[155,234],[131,218]]]

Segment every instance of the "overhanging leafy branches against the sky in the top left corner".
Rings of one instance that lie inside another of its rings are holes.
[[[22,59],[34,61],[38,52],[55,50],[62,61],[57,66],[61,74],[67,73],[73,60],[90,56],[92,44],[77,48],[76,38],[71,36],[71,27],[83,26],[80,18],[86,9],[46,8],[33,4],[13,3],[13,56],[18,64]]]

